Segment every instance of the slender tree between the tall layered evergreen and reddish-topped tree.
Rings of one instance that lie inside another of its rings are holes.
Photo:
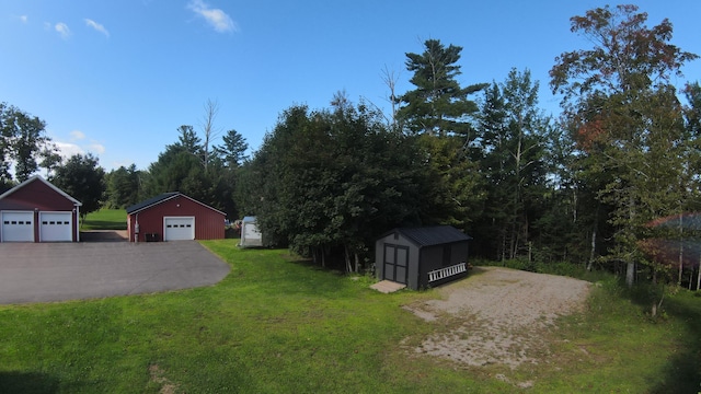
[[[545,144],[550,119],[538,107],[538,82],[530,71],[512,69],[487,89],[480,120],[489,181],[485,210],[496,230],[497,256],[515,258],[528,251],[530,232],[545,195]]]

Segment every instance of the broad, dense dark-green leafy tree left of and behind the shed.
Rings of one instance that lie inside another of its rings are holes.
[[[294,106],[244,165],[239,195],[274,242],[357,270],[379,232],[420,222],[421,158],[414,137],[388,130],[363,103]]]

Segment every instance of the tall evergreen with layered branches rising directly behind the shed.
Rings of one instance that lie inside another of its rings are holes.
[[[484,194],[474,157],[472,116],[479,109],[468,99],[484,84],[460,86],[459,46],[445,47],[437,39],[424,43],[423,54],[406,54],[406,69],[415,89],[399,97],[399,124],[420,135],[424,171],[432,186],[425,192],[424,222],[466,228],[479,212]]]

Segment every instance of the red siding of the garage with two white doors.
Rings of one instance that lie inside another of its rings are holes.
[[[73,242],[78,241],[80,222],[73,201],[56,192],[38,178],[22,186],[11,195],[0,199],[0,211],[22,210],[34,211],[34,242],[39,242],[39,211],[61,212],[72,211]]]

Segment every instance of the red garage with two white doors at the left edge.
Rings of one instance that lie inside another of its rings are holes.
[[[82,204],[41,176],[0,195],[1,242],[78,242]]]

